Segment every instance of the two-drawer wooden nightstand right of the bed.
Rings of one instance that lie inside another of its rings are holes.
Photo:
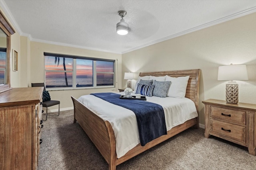
[[[210,135],[248,147],[256,155],[256,104],[227,104],[208,99],[204,104],[204,137]]]

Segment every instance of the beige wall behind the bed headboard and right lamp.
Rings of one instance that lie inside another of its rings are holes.
[[[124,72],[201,69],[200,123],[204,124],[202,100],[225,100],[225,84],[218,81],[218,66],[246,64],[248,81],[237,81],[239,102],[256,104],[256,13],[188,33],[122,55]],[[123,80],[123,85],[126,81]]]

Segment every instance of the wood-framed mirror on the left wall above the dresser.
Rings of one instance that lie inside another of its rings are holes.
[[[10,84],[11,35],[15,31],[0,11],[0,93],[12,89]]]

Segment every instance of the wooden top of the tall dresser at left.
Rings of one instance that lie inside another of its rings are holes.
[[[0,107],[39,103],[43,90],[43,87],[12,88],[0,93]]]

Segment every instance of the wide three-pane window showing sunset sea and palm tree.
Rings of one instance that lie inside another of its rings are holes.
[[[114,87],[115,61],[44,53],[46,88]]]

